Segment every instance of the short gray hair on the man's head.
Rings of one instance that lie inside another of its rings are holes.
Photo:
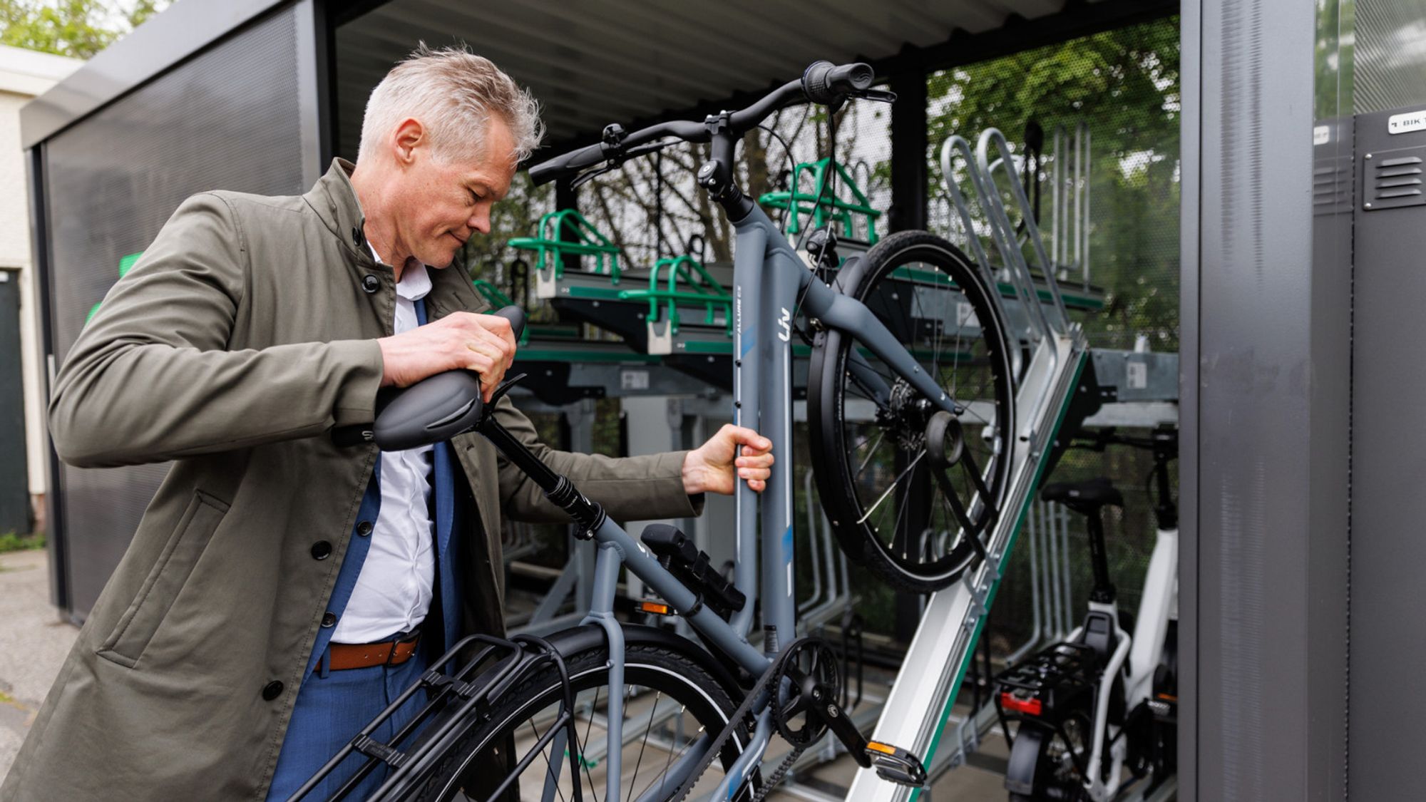
[[[492,116],[509,127],[516,160],[525,161],[539,147],[545,124],[529,91],[489,59],[463,47],[431,50],[422,41],[371,91],[356,160],[375,157],[408,117],[421,120],[439,161],[476,156]]]

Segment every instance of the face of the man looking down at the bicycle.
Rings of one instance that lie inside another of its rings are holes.
[[[496,118],[475,157],[434,158],[429,144],[415,148],[401,171],[396,235],[411,255],[432,267],[449,267],[473,231],[491,231],[491,205],[503,198],[515,177],[515,141]]]

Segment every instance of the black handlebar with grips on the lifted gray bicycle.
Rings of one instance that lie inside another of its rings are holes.
[[[803,77],[787,81],[763,96],[752,106],[727,114],[726,130],[730,134],[740,137],[756,128],[759,123],[761,123],[763,118],[773,111],[777,111],[779,108],[783,108],[784,106],[789,106],[800,98],[806,98],[807,101],[819,103],[821,106],[837,104],[848,96],[856,96],[857,93],[868,90],[874,77],[876,73],[873,73],[868,64],[854,63],[834,66],[831,61],[813,61],[807,70],[803,71]],[[716,117],[709,117],[706,121],[669,120],[646,128],[639,128],[632,134],[625,134],[623,128],[619,128],[617,126],[609,126],[605,128],[603,141],[548,158],[530,167],[529,176],[536,186],[546,184],[565,176],[578,174],[580,170],[593,167],[600,161],[619,160],[625,157],[630,148],[663,137],[676,137],[690,143],[706,143],[713,137],[712,124],[714,118]]]

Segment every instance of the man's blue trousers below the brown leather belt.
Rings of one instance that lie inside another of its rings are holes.
[[[425,649],[418,648],[416,654],[401,665],[375,665],[328,672],[322,671],[328,661],[328,656],[324,655],[317,671],[307,676],[297,694],[297,706],[292,709],[287,739],[282,741],[282,752],[277,759],[277,772],[272,775],[268,801],[284,801],[291,796],[308,778],[327,765],[327,761],[332,759],[338,749],[345,746],[361,728],[395,702],[402,691],[421,679],[426,669],[424,652]],[[425,704],[425,694],[412,695],[372,734],[372,738],[382,743],[391,743],[396,731],[411,721]],[[406,745],[409,745],[409,739],[396,746]],[[321,785],[304,796],[304,802],[328,799],[365,762],[366,755],[359,752],[348,755],[332,773],[327,775]],[[366,775],[347,798],[365,799],[385,779],[386,765],[378,763],[376,769]]]

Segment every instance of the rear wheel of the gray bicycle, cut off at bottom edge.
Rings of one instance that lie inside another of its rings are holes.
[[[697,661],[667,645],[629,644],[625,649],[625,686],[616,691],[623,698],[623,738],[622,743],[610,743],[607,662],[609,649],[605,645],[565,655],[575,691],[578,742],[556,738],[548,743],[515,785],[501,795],[502,801],[570,802],[576,782],[583,799],[602,801],[610,749],[620,753],[622,799],[667,799],[677,786],[680,759],[706,749],[737,706],[724,684]],[[481,761],[508,752],[506,763],[513,768],[549,731],[562,698],[563,688],[553,669],[538,672],[502,694],[492,702],[486,721],[442,758],[416,799],[459,802],[491,798],[503,776],[485,776],[489,763]],[[723,779],[723,769],[732,766],[746,745],[746,732],[730,738],[720,759],[709,766],[690,796],[712,792]],[[578,775],[570,771],[570,752],[579,765]],[[749,786],[756,788],[756,776]],[[734,799],[750,799],[749,789],[744,788]]]

